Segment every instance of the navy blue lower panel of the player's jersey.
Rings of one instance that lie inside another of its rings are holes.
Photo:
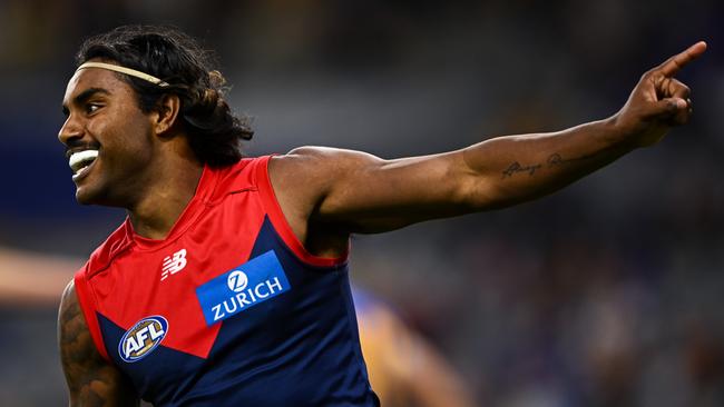
[[[265,218],[250,259],[273,250],[291,289],[221,322],[207,359],[165,347],[125,363],[124,330],[99,316],[109,356],[156,406],[379,406],[362,359],[348,267],[313,267]]]

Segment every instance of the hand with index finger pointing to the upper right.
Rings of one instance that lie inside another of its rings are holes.
[[[612,118],[633,147],[654,145],[669,128],[688,121],[691,90],[674,76],[705,50],[706,42],[699,41],[644,73],[626,105]]]

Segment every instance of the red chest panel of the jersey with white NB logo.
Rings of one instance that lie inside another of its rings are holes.
[[[169,325],[164,346],[206,357],[221,324],[207,327],[198,301],[189,297],[248,259],[265,217],[254,163],[245,160],[225,172],[205,169],[166,239],[139,237],[128,220],[111,235],[87,266],[96,311],[124,329],[164,316]]]

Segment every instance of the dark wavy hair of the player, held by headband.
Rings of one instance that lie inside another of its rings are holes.
[[[173,27],[123,26],[82,43],[76,63],[80,66],[91,59],[112,61],[169,83],[162,88],[117,73],[136,91],[139,108],[146,113],[156,108],[164,95],[179,97],[179,117],[199,161],[223,167],[242,158],[242,140],[251,140],[254,135],[250,120],[232,112],[224,100],[226,81],[213,69],[213,53],[203,50],[189,36]]]

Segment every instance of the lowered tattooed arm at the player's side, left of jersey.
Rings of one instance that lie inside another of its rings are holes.
[[[58,315],[60,361],[71,407],[138,406],[139,399],[126,377],[98,353],[80,310],[74,282],[62,295]]]

